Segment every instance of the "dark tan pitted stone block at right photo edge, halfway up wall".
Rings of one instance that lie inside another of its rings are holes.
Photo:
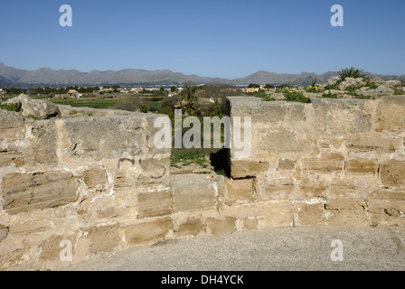
[[[382,185],[392,190],[405,188],[405,162],[388,161],[380,169]]]

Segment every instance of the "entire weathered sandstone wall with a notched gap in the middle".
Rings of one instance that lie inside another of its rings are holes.
[[[231,148],[231,178],[170,174],[158,115],[0,110],[0,269],[248,229],[405,225],[405,97],[228,102],[231,117],[252,118],[251,154]]]

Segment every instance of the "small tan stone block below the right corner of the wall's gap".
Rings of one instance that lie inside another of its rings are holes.
[[[253,179],[226,179],[225,185],[227,188],[227,192],[224,196],[225,203],[231,204],[234,202],[250,202],[255,200]]]

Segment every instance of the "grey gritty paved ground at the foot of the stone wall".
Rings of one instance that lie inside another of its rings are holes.
[[[404,271],[405,227],[270,228],[171,239],[60,270]]]

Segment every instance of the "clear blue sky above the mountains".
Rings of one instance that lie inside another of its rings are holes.
[[[64,4],[72,27],[59,24]],[[330,24],[335,4],[344,27]],[[403,0],[14,0],[1,11],[0,62],[25,70],[405,74]]]

